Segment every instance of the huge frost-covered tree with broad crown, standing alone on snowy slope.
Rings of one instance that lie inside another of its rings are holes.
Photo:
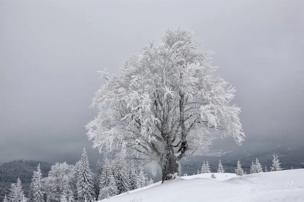
[[[243,142],[241,110],[230,105],[236,90],[214,77],[212,53],[200,53],[193,34],[169,29],[159,46],[144,47],[117,76],[100,72],[106,84],[91,106],[99,113],[86,125],[100,152],[119,147],[132,158],[153,159],[164,181],[178,174],[181,158],[206,152],[212,129]]]

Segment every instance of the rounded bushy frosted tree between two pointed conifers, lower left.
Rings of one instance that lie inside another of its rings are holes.
[[[66,180],[69,184],[74,177],[74,166],[67,163],[55,163],[45,180],[47,199],[51,202],[60,202],[60,197],[65,189]],[[48,201],[47,201],[48,202]]]

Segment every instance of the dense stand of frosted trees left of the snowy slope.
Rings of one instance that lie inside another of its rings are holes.
[[[26,197],[20,178],[11,185],[10,194],[3,202],[75,202],[96,201],[129,190],[152,184],[143,168],[127,163],[123,155],[114,160],[104,158],[97,162],[97,171],[89,167],[84,148],[82,158],[75,165],[56,163],[48,177],[43,178],[40,165],[34,171],[29,194]]]

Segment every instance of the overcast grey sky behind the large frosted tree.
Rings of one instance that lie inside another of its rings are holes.
[[[102,84],[167,28],[192,29],[238,90],[248,138],[304,142],[303,1],[1,1],[0,164],[100,156],[84,126]],[[249,144],[250,142],[248,142]]]

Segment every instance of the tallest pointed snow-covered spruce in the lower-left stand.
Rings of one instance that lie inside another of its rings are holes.
[[[93,178],[86,148],[83,150],[78,170],[77,198],[79,201],[94,201]]]

